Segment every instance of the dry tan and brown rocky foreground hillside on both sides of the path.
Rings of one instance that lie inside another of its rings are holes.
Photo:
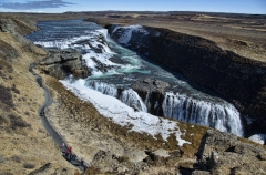
[[[0,174],[38,174],[38,169],[44,169],[43,174],[74,174],[78,169],[61,156],[38,116],[44,96],[29,66],[49,54],[21,37],[35,29],[29,27],[29,21],[3,18],[7,17],[0,18]],[[49,60],[43,65],[45,62]],[[73,69],[75,72],[80,66]],[[160,135],[153,138],[129,132],[129,127],[110,122],[92,104],[66,91],[48,74],[49,70],[40,66],[35,71],[54,101],[48,109],[50,122],[74,153],[92,165],[85,174],[266,174],[263,145],[182,122],[178,126],[186,132],[183,138],[192,143],[184,146],[178,146],[174,136],[163,141]]]

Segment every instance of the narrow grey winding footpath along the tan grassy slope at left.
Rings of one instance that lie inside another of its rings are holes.
[[[39,109],[38,113],[41,117],[42,124],[44,126],[44,128],[47,130],[47,132],[49,133],[49,135],[52,137],[53,142],[58,145],[58,147],[60,148],[60,151],[62,152],[62,156],[64,158],[66,158],[64,156],[64,153],[66,151],[65,147],[62,146],[62,143],[65,144],[65,146],[70,146],[66,141],[63,138],[63,136],[58,133],[55,131],[55,128],[52,126],[52,124],[49,122],[48,117],[47,117],[47,109],[48,106],[50,106],[53,103],[53,100],[51,97],[50,91],[48,90],[48,87],[43,84],[42,78],[37,74],[33,69],[38,65],[38,63],[33,63],[30,65],[29,71],[35,76],[37,83],[40,85],[40,87],[42,87],[44,90],[45,93],[45,102],[43,103],[43,105]],[[74,153],[73,153],[74,154]],[[75,155],[75,154],[74,154]],[[83,171],[84,167],[81,166],[81,158],[79,156],[76,156],[73,161],[71,161],[71,164],[75,167],[78,167],[79,169]],[[89,167],[89,163],[84,164]]]

